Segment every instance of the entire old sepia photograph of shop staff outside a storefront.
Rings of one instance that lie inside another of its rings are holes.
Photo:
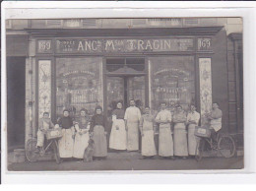
[[[5,25],[8,171],[244,168],[241,17]]]

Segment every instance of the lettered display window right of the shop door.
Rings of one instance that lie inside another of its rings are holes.
[[[171,102],[187,110],[195,103],[195,64],[193,56],[151,57],[150,92],[151,106],[157,112],[160,102],[167,107]]]

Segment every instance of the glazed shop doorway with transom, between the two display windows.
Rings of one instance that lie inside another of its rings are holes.
[[[105,64],[105,103],[108,112],[121,101],[123,108],[134,99],[143,108],[147,102],[147,67],[145,58],[107,58]]]

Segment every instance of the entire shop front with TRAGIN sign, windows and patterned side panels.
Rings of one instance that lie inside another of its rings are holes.
[[[31,120],[27,137],[35,136],[45,111],[53,122],[64,108],[75,117],[82,108],[93,115],[101,105],[109,116],[119,100],[126,108],[134,99],[138,107],[150,106],[154,114],[162,101],[168,108],[175,103],[185,110],[196,104],[202,124],[213,101],[227,112],[222,29],[28,30],[34,55],[27,59],[27,71],[32,73],[27,81],[35,79],[35,85],[27,86],[35,94],[30,89],[26,94]]]

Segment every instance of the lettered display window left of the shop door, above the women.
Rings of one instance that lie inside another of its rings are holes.
[[[64,108],[78,116],[86,108],[90,115],[102,106],[101,58],[57,58],[56,118]]]

